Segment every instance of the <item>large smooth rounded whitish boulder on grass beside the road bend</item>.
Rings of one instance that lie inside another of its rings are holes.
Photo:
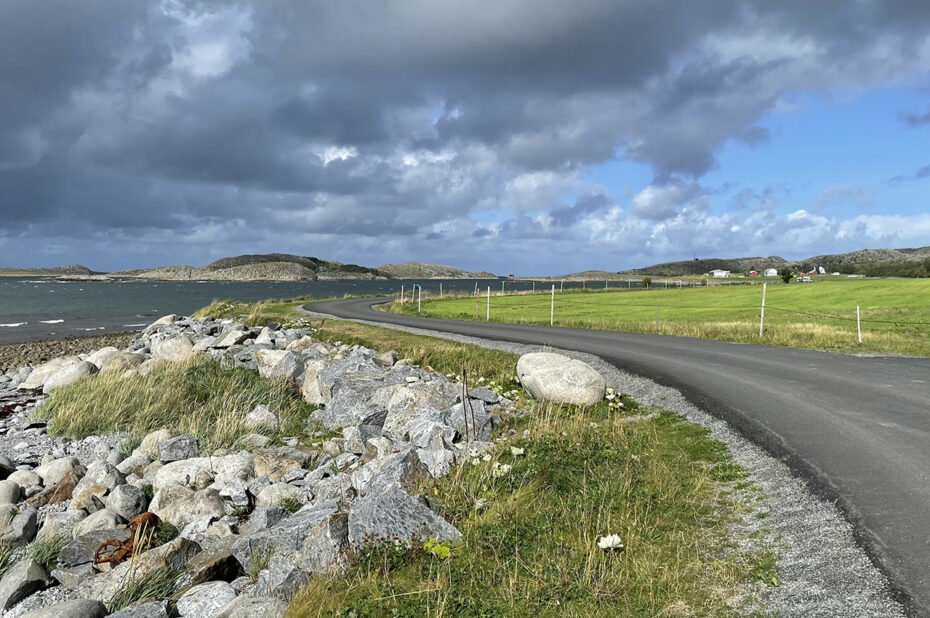
[[[593,405],[604,398],[607,382],[587,363],[551,352],[524,354],[517,377],[534,399],[572,405]]]

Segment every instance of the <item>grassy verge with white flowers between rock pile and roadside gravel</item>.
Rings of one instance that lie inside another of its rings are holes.
[[[728,526],[749,508],[745,471],[706,429],[667,411],[630,422],[642,411],[624,403],[509,419],[489,457],[414,488],[462,544],[366,548],[286,615],[752,614],[747,593],[777,579],[772,551],[743,548]],[[601,549],[608,534],[623,548]]]

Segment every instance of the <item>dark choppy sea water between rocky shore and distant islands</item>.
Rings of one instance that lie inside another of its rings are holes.
[[[399,295],[413,284],[424,292],[473,290],[474,279],[388,281],[54,281],[26,277],[0,278],[0,343],[73,335],[139,330],[169,313],[190,314],[219,299],[253,302],[266,298],[310,296],[323,299],[350,295]],[[532,289],[531,282],[507,281],[508,290]],[[565,287],[581,287],[565,282]],[[613,284],[618,285],[618,284]],[[479,280],[486,290],[499,290],[501,280]],[[548,287],[537,284],[540,289]]]

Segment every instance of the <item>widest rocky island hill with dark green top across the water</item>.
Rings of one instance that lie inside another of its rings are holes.
[[[330,262],[288,253],[237,255],[200,268],[160,266],[110,273],[117,277],[207,281],[314,281],[325,279],[387,279],[374,268]]]

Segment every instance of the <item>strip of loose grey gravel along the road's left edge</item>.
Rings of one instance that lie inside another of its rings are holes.
[[[313,312],[320,317],[335,317]],[[341,319],[341,318],[336,318]],[[412,333],[462,341],[516,354],[541,346],[498,342],[439,331],[358,320]],[[620,371],[599,357],[566,352],[601,371],[614,388],[644,404],[662,406],[710,429],[761,487],[761,506],[768,515],[746,526],[767,528],[779,553],[781,585],[771,587],[768,609],[779,616],[903,617],[913,615],[896,598],[885,576],[856,543],[852,525],[831,502],[815,496],[807,483],[783,462],[765,453],[725,421],[693,405],[678,390]]]

